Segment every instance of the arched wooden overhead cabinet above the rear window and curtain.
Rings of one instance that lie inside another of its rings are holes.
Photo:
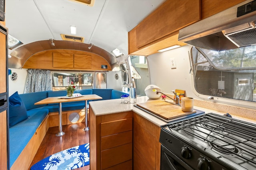
[[[57,56],[55,59],[53,59],[53,53]],[[81,61],[79,61],[79,59],[81,59]],[[101,65],[107,65],[108,68],[101,68]],[[99,55],[85,51],[65,49],[48,50],[36,53],[24,63],[22,68],[48,70],[112,70],[106,59]]]

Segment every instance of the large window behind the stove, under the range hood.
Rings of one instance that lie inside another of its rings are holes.
[[[194,85],[198,93],[256,102],[256,46],[227,51],[193,47]]]

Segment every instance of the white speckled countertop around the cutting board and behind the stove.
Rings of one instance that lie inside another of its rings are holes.
[[[150,99],[148,99],[148,97],[141,96],[141,97],[137,98],[137,103],[144,103],[148,100],[150,100]],[[96,116],[112,114],[112,113],[120,113],[120,112],[124,112],[124,111],[134,111],[138,115],[144,117],[145,119],[151,121],[152,123],[158,125],[159,127],[161,125],[165,125],[168,123],[166,121],[163,121],[161,118],[156,117],[155,115],[152,115],[150,113],[143,111],[142,109],[134,107],[134,105],[136,105],[136,103],[135,104],[130,104],[130,103],[121,104],[121,99],[92,101],[92,102],[89,102],[89,104],[90,104],[90,109],[93,110],[93,112],[95,113]],[[204,111],[205,113],[216,113],[216,114],[220,114],[220,115],[225,114],[222,112],[206,109],[203,107],[197,107],[197,106],[194,106],[194,109]],[[235,115],[232,115],[232,117],[234,119],[240,119],[242,121],[256,123],[256,121],[251,120],[251,119],[246,119],[244,117],[239,117],[239,116],[235,116]]]

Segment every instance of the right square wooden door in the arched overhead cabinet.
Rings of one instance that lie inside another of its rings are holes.
[[[92,55],[74,54],[75,68],[92,68]]]

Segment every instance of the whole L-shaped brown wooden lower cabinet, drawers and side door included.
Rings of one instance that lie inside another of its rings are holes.
[[[160,127],[132,112],[90,109],[90,170],[160,170]]]

